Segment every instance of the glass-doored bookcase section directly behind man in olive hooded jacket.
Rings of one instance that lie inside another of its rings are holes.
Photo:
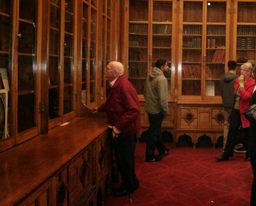
[[[175,32],[173,32],[173,0],[129,0],[127,9],[127,36],[124,56],[127,76],[137,88],[139,96],[143,94],[144,83],[158,59],[169,62],[170,71],[165,73],[168,79],[170,96],[174,81],[174,55],[172,50]],[[124,27],[124,29],[125,29]],[[175,29],[174,29],[175,30]],[[173,34],[174,33],[174,34]],[[142,97],[142,95],[140,96]]]

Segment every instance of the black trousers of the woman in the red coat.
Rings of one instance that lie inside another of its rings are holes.
[[[228,127],[227,142],[223,153],[224,156],[228,157],[234,151],[234,145],[238,138],[238,130],[240,125],[242,125],[240,111],[238,109],[232,109],[229,122],[230,124]],[[244,147],[246,148],[245,156],[248,156],[248,129],[249,127],[243,128],[245,136]]]

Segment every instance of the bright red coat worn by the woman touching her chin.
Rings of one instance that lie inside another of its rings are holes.
[[[241,122],[242,122],[243,128],[250,126],[250,122],[243,115],[243,112],[246,108],[249,107],[249,100],[252,95],[254,85],[255,85],[254,80],[251,77],[248,77],[246,83],[244,84],[244,87],[239,90],[239,93],[240,93],[239,111],[240,111]],[[235,93],[236,93],[238,87],[239,87],[239,78],[236,79],[235,84],[234,84],[234,97],[235,97]]]

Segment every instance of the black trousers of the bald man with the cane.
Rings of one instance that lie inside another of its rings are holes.
[[[130,193],[138,187],[139,180],[135,174],[135,145],[136,134],[119,134],[112,140],[115,161],[122,178],[121,186]]]

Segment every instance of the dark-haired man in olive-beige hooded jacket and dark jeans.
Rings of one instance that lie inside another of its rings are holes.
[[[161,141],[161,126],[168,112],[168,82],[164,75],[167,71],[169,71],[168,62],[165,59],[157,60],[144,86],[145,107],[150,122],[145,159],[148,162],[160,161],[170,152],[170,148],[166,148]],[[159,155],[155,154],[155,148]]]

